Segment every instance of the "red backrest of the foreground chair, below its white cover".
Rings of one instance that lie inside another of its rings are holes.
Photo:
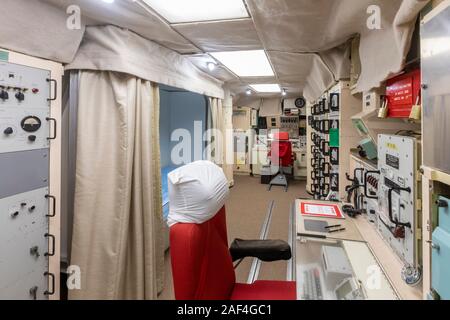
[[[226,213],[202,224],[170,228],[170,255],[177,300],[228,300],[236,277],[228,247]]]

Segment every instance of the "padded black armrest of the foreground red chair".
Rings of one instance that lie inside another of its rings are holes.
[[[258,258],[272,262],[289,260],[292,257],[291,247],[282,240],[242,240],[235,239],[230,247],[233,261],[246,257]]]

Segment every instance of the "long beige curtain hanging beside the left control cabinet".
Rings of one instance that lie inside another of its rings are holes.
[[[158,86],[82,71],[70,299],[155,299],[163,285]]]

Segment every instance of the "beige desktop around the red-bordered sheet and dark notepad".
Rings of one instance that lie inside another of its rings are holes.
[[[323,217],[310,217],[304,216],[300,214],[300,206],[302,202],[307,203],[315,203],[315,204],[336,204],[342,210],[342,204],[339,202],[330,202],[330,201],[317,201],[317,200],[295,200],[295,216],[296,216],[296,225],[297,225],[297,236],[304,238],[322,238],[322,239],[331,239],[331,240],[350,240],[350,241],[364,241],[361,233],[358,228],[355,226],[352,219],[334,219],[334,218],[323,218]],[[340,232],[313,232],[308,231],[305,228],[305,221],[323,221],[326,222],[329,226],[340,224],[342,228],[345,228],[344,231]]]

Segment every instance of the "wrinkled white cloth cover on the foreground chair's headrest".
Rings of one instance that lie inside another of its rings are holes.
[[[167,224],[201,224],[213,218],[229,195],[223,170],[210,161],[196,161],[168,175]]]

